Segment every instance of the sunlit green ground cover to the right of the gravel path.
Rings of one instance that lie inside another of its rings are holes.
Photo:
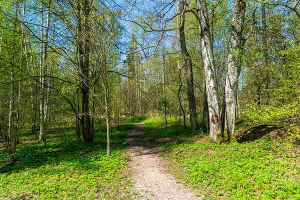
[[[164,127],[161,118],[143,123],[145,137],[164,149],[172,173],[205,199],[300,199],[300,146],[274,137],[280,131],[251,128],[240,131],[240,143],[214,145],[203,143],[200,131]]]

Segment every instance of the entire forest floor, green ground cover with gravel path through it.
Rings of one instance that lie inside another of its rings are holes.
[[[22,131],[16,153],[0,146],[0,199],[300,199],[300,145],[282,127],[237,121],[236,143],[210,144],[171,117],[121,122],[110,157],[103,124],[92,143],[48,129],[46,148]]]

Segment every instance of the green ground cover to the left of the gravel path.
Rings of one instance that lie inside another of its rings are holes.
[[[0,150],[0,166],[19,157],[0,173],[0,198],[13,199],[128,199],[131,183],[128,154],[123,145],[134,124],[123,123],[111,135],[106,156],[106,133],[96,128],[95,143],[76,143],[73,128],[47,132],[47,148],[37,135],[24,134],[17,152]]]

